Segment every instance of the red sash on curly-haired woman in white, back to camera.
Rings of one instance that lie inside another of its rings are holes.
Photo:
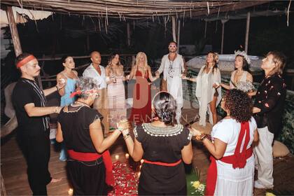
[[[246,160],[248,158],[251,158],[252,155],[252,148],[248,148],[246,150],[246,147],[248,146],[250,135],[249,135],[249,123],[241,123],[241,130],[239,133],[239,138],[237,142],[237,146],[235,149],[234,155],[226,156],[221,158],[220,160],[222,162],[232,164],[232,167],[235,168],[244,168],[246,165]],[[246,134],[246,135],[245,135]],[[241,143],[245,135],[245,142],[242,149],[242,152],[240,153]],[[209,165],[209,169],[207,171],[207,190],[205,192],[205,195],[214,195],[214,190],[216,190],[216,179],[218,177],[218,168],[216,166],[216,159],[211,156],[211,165]]]

